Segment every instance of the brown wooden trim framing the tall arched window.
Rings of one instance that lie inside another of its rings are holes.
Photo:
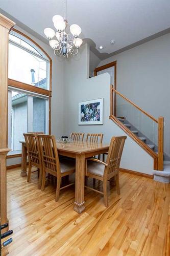
[[[13,79],[8,79],[8,85],[12,86],[12,87],[15,87],[15,88],[22,89],[22,90],[26,90],[26,91],[30,91],[30,92],[34,92],[34,93],[49,96],[48,133],[51,134],[52,58],[31,37],[29,37],[28,35],[22,33],[21,31],[19,31],[17,29],[14,29],[14,28],[12,29],[12,31],[15,31],[16,33],[22,35],[23,37],[26,37],[31,42],[33,42],[33,44],[35,46],[37,46],[37,48],[39,48],[46,55],[48,60],[50,61],[50,90],[45,90],[45,89],[42,89],[42,88],[34,87],[34,86],[31,86],[30,84],[19,82],[19,81],[13,80]],[[8,138],[8,132],[7,132],[7,138]],[[8,155],[7,158],[14,158],[14,157],[20,157],[20,156],[21,156],[21,154],[14,154],[14,155]]]

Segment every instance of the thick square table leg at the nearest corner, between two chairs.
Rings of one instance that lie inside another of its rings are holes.
[[[85,155],[76,156],[76,191],[74,210],[81,214],[85,210],[84,205],[84,169]]]

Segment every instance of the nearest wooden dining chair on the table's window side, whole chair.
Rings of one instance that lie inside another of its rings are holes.
[[[45,187],[46,173],[57,177],[56,202],[59,199],[60,189],[68,187],[74,183],[70,183],[61,187],[61,178],[75,172],[75,161],[71,159],[61,159],[59,161],[57,144],[54,135],[37,134],[42,158],[42,185],[41,190]]]

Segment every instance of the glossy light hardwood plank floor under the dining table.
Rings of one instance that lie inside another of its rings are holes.
[[[120,173],[121,194],[112,187],[109,208],[100,194],[85,189],[86,210],[79,215],[74,186],[55,202],[55,185],[49,181],[42,192],[36,175],[28,183],[20,168],[7,172],[13,242],[3,255],[170,255],[170,184]]]

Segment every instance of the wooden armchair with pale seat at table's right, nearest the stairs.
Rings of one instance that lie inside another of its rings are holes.
[[[127,136],[112,137],[106,162],[96,158],[86,160],[85,175],[94,179],[103,181],[103,192],[90,188],[104,195],[105,206],[108,207],[107,181],[115,178],[117,194],[120,194],[119,188],[119,165]]]

